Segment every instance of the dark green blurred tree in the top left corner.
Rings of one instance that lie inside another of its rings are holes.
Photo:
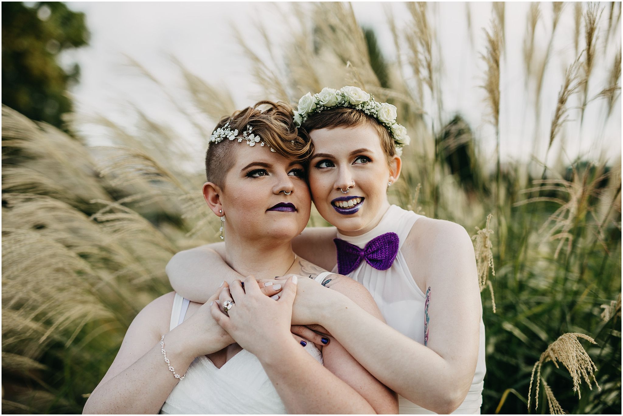
[[[67,70],[57,58],[88,45],[89,36],[84,14],[62,2],[2,2],[2,104],[62,128],[60,115],[72,111],[65,91],[78,82],[80,65]]]

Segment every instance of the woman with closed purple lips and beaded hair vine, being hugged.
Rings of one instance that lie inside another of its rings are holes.
[[[214,273],[206,283],[220,287],[205,305],[174,292],[152,301],[131,323],[83,412],[396,413],[394,392],[340,343],[290,326],[296,275],[307,283],[308,275],[321,281],[329,274],[292,250],[311,207],[302,164],[310,142],[297,136],[292,108],[245,108],[221,120],[210,141],[204,198],[227,224],[232,268],[258,279],[227,283]],[[296,275],[272,279],[286,273]],[[383,321],[359,283],[344,281],[335,293]]]

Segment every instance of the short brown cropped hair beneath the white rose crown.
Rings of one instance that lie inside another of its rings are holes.
[[[369,125],[376,130],[381,140],[381,148],[385,153],[388,163],[391,161],[394,154],[396,154],[396,148],[394,139],[389,135],[389,131],[385,126],[379,123],[376,118],[369,116],[361,110],[355,110],[354,108],[346,107],[334,107],[328,110],[323,110],[320,113],[311,113],[308,115],[305,123],[298,129],[299,134],[309,135],[314,130],[320,130],[321,128],[353,128],[357,126]]]

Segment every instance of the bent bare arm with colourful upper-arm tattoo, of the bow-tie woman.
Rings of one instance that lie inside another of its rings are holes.
[[[430,277],[427,346],[345,296],[327,296],[316,320],[379,381],[426,409],[447,414],[462,403],[473,379],[482,306],[472,242],[459,225],[442,223],[419,230],[429,235],[421,239],[426,245],[414,248],[426,259],[421,271]]]

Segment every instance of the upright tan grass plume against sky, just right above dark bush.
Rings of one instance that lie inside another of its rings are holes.
[[[500,24],[492,19],[491,32],[485,32],[487,38],[486,53],[480,54],[480,59],[487,64],[487,75],[485,77],[484,88],[487,92],[486,102],[489,106],[491,123],[498,130],[500,126],[500,54],[502,52],[502,35]]]

